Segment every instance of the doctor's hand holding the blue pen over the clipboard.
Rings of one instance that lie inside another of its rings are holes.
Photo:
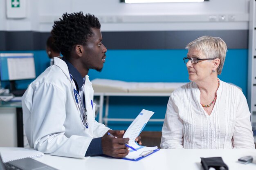
[[[117,138],[111,137],[108,132]],[[122,138],[124,130],[108,130],[108,132],[101,138],[103,154],[116,158],[126,157],[129,150],[124,144],[128,144],[129,138]]]

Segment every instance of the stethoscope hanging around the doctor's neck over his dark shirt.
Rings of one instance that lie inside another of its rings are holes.
[[[71,74],[70,74],[70,79],[73,82]],[[78,91],[74,87],[73,87],[73,91],[74,91],[74,96],[76,99],[76,104],[78,105],[78,108],[80,108],[80,113],[81,113],[80,117],[83,121],[83,124],[84,124],[85,128],[89,128],[89,123],[87,120],[87,110],[85,108],[85,99],[83,99],[83,105],[82,105],[81,97],[80,97]]]

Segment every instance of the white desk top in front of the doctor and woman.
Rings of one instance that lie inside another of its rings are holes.
[[[254,162],[238,163],[252,155]],[[59,170],[202,170],[200,157],[222,157],[229,170],[256,170],[256,150],[171,150],[162,149],[137,162],[108,157],[75,159],[44,155],[36,160]]]

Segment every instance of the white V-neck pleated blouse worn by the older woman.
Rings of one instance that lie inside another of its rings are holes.
[[[177,88],[167,104],[161,148],[255,148],[243,92],[220,81],[216,103],[208,115],[200,104],[195,82]]]

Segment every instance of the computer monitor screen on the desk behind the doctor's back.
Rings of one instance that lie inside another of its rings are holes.
[[[33,53],[0,53],[0,78],[20,80],[36,78]]]

